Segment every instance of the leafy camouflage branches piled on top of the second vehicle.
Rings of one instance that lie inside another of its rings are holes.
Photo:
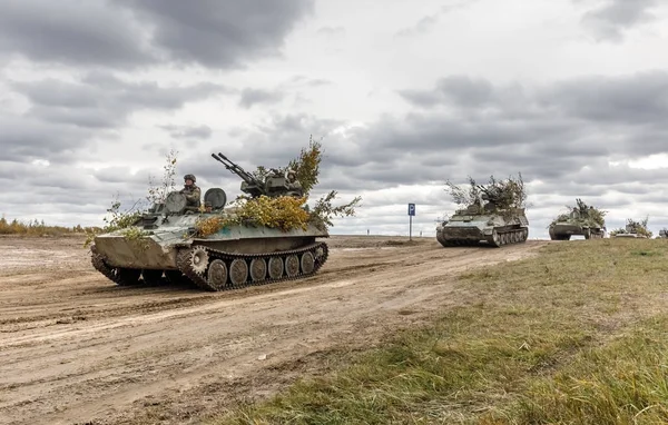
[[[527,208],[527,189],[521,174],[518,174],[518,178],[510,176],[502,180],[491,176],[487,185],[477,184],[470,176],[469,186],[463,188],[451,181],[446,181],[445,185],[454,202],[463,208],[474,206],[482,208],[484,201],[491,202],[498,211]]]

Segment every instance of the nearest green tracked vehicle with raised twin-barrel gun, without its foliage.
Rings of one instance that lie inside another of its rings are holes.
[[[229,171],[242,178],[240,190],[257,198],[303,195],[292,170],[271,169],[258,179],[223,154],[212,154]],[[128,238],[128,229],[98,235],[91,246],[94,267],[118,285],[158,284],[163,276],[173,283],[190,281],[205,290],[226,290],[296,279],[315,274],[327,260],[326,228],[307,224],[284,231],[265,226],[232,225],[208,236],[198,236],[198,220],[225,218],[227,196],[210,188],[205,208],[187,206],[184,194],[170,192],[132,226],[139,237]]]

